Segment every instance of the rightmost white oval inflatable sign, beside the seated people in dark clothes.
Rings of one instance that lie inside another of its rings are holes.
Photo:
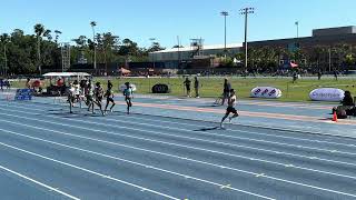
[[[337,88],[318,88],[309,93],[312,100],[315,101],[342,101],[345,91]]]

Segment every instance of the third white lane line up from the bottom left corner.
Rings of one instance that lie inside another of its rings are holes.
[[[1,130],[3,130],[3,129],[1,129]],[[8,132],[8,133],[11,133],[11,134],[17,134],[17,136],[30,138],[32,140],[39,140],[39,141],[42,141],[42,142],[47,142],[47,143],[52,143],[52,144],[56,144],[56,146],[65,147],[65,148],[68,148],[68,149],[75,149],[75,150],[78,150],[78,151],[82,151],[82,152],[87,152],[87,153],[91,153],[91,154],[96,154],[96,156],[100,156],[100,157],[105,157],[105,158],[109,158],[109,159],[113,159],[113,160],[119,160],[121,162],[127,162],[127,163],[130,163],[130,164],[144,167],[144,168],[156,170],[156,171],[160,171],[160,172],[164,172],[164,173],[169,173],[169,174],[182,177],[182,178],[186,178],[186,179],[192,179],[192,180],[196,180],[196,181],[199,181],[199,182],[204,182],[204,183],[208,183],[208,184],[212,184],[212,186],[216,186],[216,187],[222,187],[224,186],[221,183],[217,183],[217,182],[212,182],[212,181],[209,181],[209,180],[191,177],[191,176],[184,174],[184,173],[178,173],[178,172],[175,172],[175,171],[169,171],[169,170],[161,169],[161,168],[154,167],[154,166],[147,166],[147,164],[144,164],[144,163],[140,163],[140,162],[122,159],[122,158],[119,158],[119,157],[113,157],[113,156],[109,156],[109,154],[105,154],[105,153],[99,153],[99,152],[96,152],[96,151],[90,151],[90,150],[87,150],[87,149],[81,149],[81,148],[77,148],[77,147],[73,147],[73,146],[58,143],[58,142],[55,142],[55,141],[44,140],[44,139],[40,139],[40,138],[36,138],[36,137],[29,137],[29,136],[26,136],[26,134],[13,132],[13,131],[8,131],[8,130],[3,130],[3,131]],[[257,193],[254,193],[254,192],[249,192],[249,191],[237,189],[237,188],[233,188],[233,187],[230,187],[229,189],[231,189],[234,191],[238,191],[238,192],[245,193],[245,194],[249,194],[249,196],[255,196],[255,197],[259,197],[259,198],[264,198],[264,199],[273,199],[273,198],[268,198],[268,197],[265,197],[265,196],[261,196],[261,194],[257,194]]]

